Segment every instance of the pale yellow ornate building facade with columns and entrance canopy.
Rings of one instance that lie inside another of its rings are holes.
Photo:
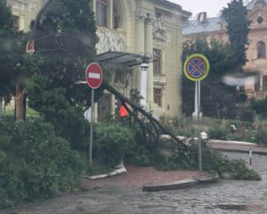
[[[98,53],[138,53],[155,59],[146,79],[140,66],[117,68],[113,85],[126,96],[132,88],[145,90],[143,105],[155,116],[181,115],[182,20],[190,12],[166,0],[94,0],[93,10]],[[109,109],[115,112],[115,99],[107,93],[98,105],[99,115]]]

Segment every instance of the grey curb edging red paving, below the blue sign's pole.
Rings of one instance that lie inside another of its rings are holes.
[[[199,177],[198,179],[185,179],[181,181],[176,181],[173,183],[159,184],[159,185],[143,185],[142,192],[158,192],[167,190],[177,190],[193,187],[195,185],[206,185],[219,182],[220,177],[218,175],[207,175],[204,177]]]

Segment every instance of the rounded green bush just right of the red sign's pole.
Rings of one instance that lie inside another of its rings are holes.
[[[133,132],[116,122],[97,124],[95,132],[97,157],[104,164],[116,166],[129,151],[129,146],[133,142]]]

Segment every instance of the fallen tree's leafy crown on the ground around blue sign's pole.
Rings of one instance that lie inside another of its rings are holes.
[[[158,158],[158,169],[187,169],[198,170],[198,144],[190,144],[187,150],[179,147],[178,144],[171,144],[170,150],[173,155],[167,161],[161,156]],[[244,161],[230,161],[221,152],[203,144],[202,146],[202,167],[204,171],[217,172],[220,177],[236,180],[260,180],[260,175],[254,170],[247,168]]]

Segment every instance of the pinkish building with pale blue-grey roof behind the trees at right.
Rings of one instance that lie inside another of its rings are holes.
[[[258,78],[245,80],[245,90],[248,97],[263,99],[267,96],[267,0],[253,0],[247,4],[247,19],[251,21],[248,34],[247,63],[244,70],[255,72]],[[206,18],[206,12],[198,14],[198,18],[183,22],[183,41],[196,37],[205,37],[207,42],[217,38],[228,42],[227,23],[222,16]]]

